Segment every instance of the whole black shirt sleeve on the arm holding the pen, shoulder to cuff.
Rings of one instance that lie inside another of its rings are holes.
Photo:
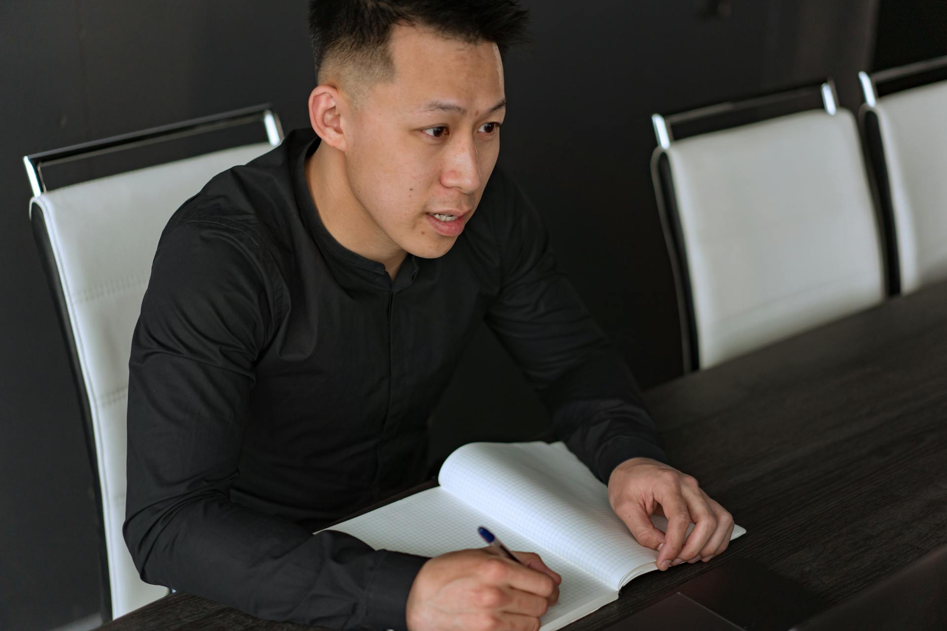
[[[129,363],[125,541],[142,578],[261,618],[402,628],[425,558],[233,502],[255,384],[285,296],[259,235],[169,226]]]

